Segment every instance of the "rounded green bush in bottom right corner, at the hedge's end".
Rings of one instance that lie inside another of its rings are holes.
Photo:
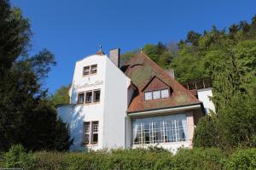
[[[256,169],[256,149],[237,150],[225,163],[225,169],[254,170]]]

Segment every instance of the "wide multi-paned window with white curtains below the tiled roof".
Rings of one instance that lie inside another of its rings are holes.
[[[185,114],[154,116],[132,121],[133,144],[185,141],[188,137]]]

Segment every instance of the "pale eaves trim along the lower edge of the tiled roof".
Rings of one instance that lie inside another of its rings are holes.
[[[145,116],[145,115],[154,115],[156,113],[170,113],[174,111],[187,111],[195,108],[201,108],[201,105],[188,105],[183,107],[176,107],[176,108],[168,108],[168,109],[161,109],[161,110],[154,110],[154,111],[139,111],[136,113],[130,113],[128,116]]]

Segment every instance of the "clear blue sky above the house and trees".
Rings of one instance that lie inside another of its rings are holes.
[[[146,43],[177,42],[190,30],[229,27],[256,14],[255,0],[11,0],[31,20],[32,51],[48,48],[57,65],[45,87],[54,93],[72,82],[75,61],[121,48],[125,53]]]

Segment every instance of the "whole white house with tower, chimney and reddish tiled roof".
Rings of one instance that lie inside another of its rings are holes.
[[[119,49],[77,61],[70,104],[56,108],[69,123],[71,150],[192,147],[205,115],[201,101],[143,52],[119,68]]]

